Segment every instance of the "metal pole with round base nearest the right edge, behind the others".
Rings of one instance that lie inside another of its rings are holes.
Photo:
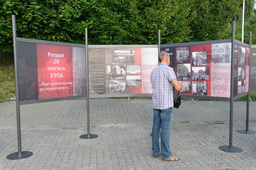
[[[250,33],[249,33],[249,45],[250,45],[250,48],[251,48],[251,46],[252,46],[252,31],[250,31]],[[251,77],[250,73],[251,73],[251,67],[249,66],[249,82],[250,82],[250,77]],[[246,129],[245,130],[238,130],[238,132],[246,133],[246,134],[256,134],[256,131],[249,130],[249,105],[250,105],[249,100],[251,100],[251,98],[250,98],[250,85],[248,86],[248,94],[247,94],[247,100],[246,100]],[[252,102],[252,100],[251,100],[251,102]]]

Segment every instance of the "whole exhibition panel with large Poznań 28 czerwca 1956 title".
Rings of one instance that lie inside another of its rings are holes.
[[[21,104],[86,96],[85,46],[17,38]]]

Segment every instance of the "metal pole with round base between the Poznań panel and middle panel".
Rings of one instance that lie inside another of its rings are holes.
[[[89,104],[89,58],[88,58],[88,36],[87,36],[87,28],[85,28],[85,58],[86,58],[86,79],[87,79],[87,94],[86,94],[86,102],[87,102],[87,134],[81,135],[80,138],[82,139],[94,139],[97,138],[98,135],[90,134],[90,104]]]

